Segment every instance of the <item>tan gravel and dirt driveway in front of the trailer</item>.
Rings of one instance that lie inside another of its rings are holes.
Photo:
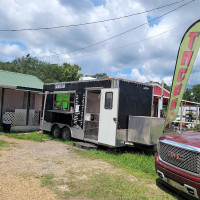
[[[70,177],[87,179],[101,172],[123,174],[123,171],[101,161],[82,157],[74,152],[74,147],[55,141],[43,143],[17,140],[0,135],[0,140],[8,141],[10,147],[0,151],[0,199],[1,200],[56,200],[60,193],[68,191]],[[84,173],[87,172],[87,173]],[[53,176],[58,183],[53,190],[42,186],[43,176]],[[126,175],[127,176],[127,175]],[[135,181],[135,177],[128,177]],[[57,191],[57,192],[55,192]],[[68,199],[86,199],[69,197]]]

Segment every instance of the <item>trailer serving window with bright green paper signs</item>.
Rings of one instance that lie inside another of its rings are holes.
[[[74,93],[57,93],[54,96],[54,109],[74,109]]]

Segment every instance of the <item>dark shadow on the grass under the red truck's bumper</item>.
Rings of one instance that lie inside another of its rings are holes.
[[[168,193],[169,195],[173,196],[177,200],[197,200],[196,198],[193,198],[190,195],[187,195],[176,188],[165,184],[162,180],[159,178],[156,179],[156,185],[163,190],[164,192]]]

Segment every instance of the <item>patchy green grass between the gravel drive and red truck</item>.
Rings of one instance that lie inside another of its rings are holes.
[[[163,187],[155,172],[155,156],[152,153],[144,153],[135,150],[132,153],[115,151],[75,150],[79,155],[91,159],[101,159],[116,167],[122,168],[127,174],[136,177],[137,182],[128,181],[125,177],[116,175],[99,174],[79,186],[72,187],[72,192],[66,192],[71,196],[87,196],[93,199],[182,199],[176,193]],[[156,189],[157,186],[161,190]],[[153,188],[148,187],[153,186]],[[72,184],[73,186],[73,184]],[[78,188],[75,189],[75,188]],[[110,192],[109,192],[110,191]],[[156,193],[159,192],[159,194]]]

